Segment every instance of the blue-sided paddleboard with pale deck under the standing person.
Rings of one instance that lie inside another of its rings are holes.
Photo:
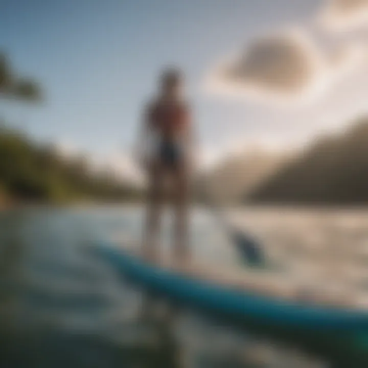
[[[97,251],[134,283],[234,326],[308,342],[318,349],[368,351],[368,312],[343,298],[303,295],[292,283],[263,271],[152,262],[123,245],[100,244]]]

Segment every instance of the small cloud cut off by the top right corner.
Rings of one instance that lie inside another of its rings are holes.
[[[329,0],[318,21],[334,31],[349,31],[368,27],[368,0]]]

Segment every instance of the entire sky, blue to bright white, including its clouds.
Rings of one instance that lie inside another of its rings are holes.
[[[294,148],[366,113],[367,29],[367,0],[0,0],[0,50],[46,97],[1,114],[128,170],[142,106],[178,65],[203,163]]]

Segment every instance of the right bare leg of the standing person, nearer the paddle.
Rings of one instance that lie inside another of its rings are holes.
[[[188,176],[188,170],[183,165],[172,172],[173,204],[175,211],[173,252],[175,260],[180,263],[186,263],[190,258],[188,244]]]

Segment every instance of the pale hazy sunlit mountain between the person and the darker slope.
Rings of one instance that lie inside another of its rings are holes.
[[[258,149],[230,156],[202,178],[206,195],[221,202],[239,203],[285,163],[286,155]]]

